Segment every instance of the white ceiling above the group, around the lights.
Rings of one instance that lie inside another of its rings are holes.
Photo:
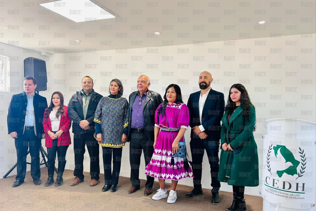
[[[69,53],[316,33],[315,0],[96,0],[118,17],[80,23],[40,1],[0,1],[0,42]]]

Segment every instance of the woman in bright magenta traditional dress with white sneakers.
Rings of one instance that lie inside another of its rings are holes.
[[[184,141],[183,135],[189,126],[190,116],[188,107],[182,101],[178,85],[170,84],[163,98],[163,103],[158,106],[155,113],[154,154],[145,168],[145,175],[159,180],[160,189],[153,195],[153,200],[168,197],[167,203],[174,203],[177,199],[175,190],[178,181],[193,177],[192,169],[187,161],[181,157],[173,157],[173,153],[179,150],[178,143]],[[172,180],[169,195],[165,189],[166,179]]]

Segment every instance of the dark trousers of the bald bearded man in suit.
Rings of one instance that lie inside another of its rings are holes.
[[[202,162],[204,150],[206,151],[210,168],[211,168],[211,186],[212,193],[218,193],[221,183],[217,180],[219,169],[219,142],[208,141],[206,139],[191,138],[190,141],[191,156],[192,156],[192,172],[193,172],[193,186],[194,188],[202,188]]]

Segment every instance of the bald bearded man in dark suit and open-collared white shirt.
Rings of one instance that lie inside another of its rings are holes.
[[[199,76],[201,91],[192,93],[188,99],[191,127],[191,156],[193,171],[193,190],[186,194],[192,198],[202,195],[202,161],[204,150],[211,168],[212,204],[219,203],[218,191],[221,183],[217,180],[219,168],[219,141],[221,138],[221,119],[224,114],[224,94],[211,88],[212,75],[204,71]]]

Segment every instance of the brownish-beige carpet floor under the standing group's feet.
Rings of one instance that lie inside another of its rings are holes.
[[[222,211],[231,205],[232,193],[220,191],[221,202],[218,205],[210,203],[210,189],[203,189],[203,195],[198,198],[188,199],[185,197],[192,187],[185,185],[177,186],[177,201],[168,204],[167,199],[154,201],[152,195],[144,196],[145,181],[141,181],[141,189],[133,194],[127,194],[131,187],[130,178],[120,177],[118,190],[101,192],[104,185],[104,175],[100,174],[100,182],[90,187],[88,172],[84,172],[85,181],[76,186],[70,186],[73,180],[73,171],[65,170],[64,184],[59,187],[45,187],[47,179],[47,168],[41,168],[41,185],[34,185],[30,172],[26,173],[24,183],[19,187],[12,188],[15,176],[0,179],[0,210],[1,211],[78,211],[78,210],[109,210],[109,211],[150,211],[155,208],[166,210],[193,210],[194,211]],[[56,180],[56,174],[54,176]],[[170,184],[171,185],[171,184]],[[166,188],[170,190],[169,183]],[[155,182],[154,189],[159,184]],[[262,198],[258,196],[245,195],[247,211],[261,211]]]

